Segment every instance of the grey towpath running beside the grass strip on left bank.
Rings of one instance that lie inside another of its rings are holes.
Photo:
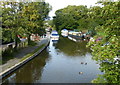
[[[7,61],[7,63],[0,65],[0,68],[2,68],[2,72],[5,71],[6,69],[12,67],[13,65],[17,64],[21,58],[23,58],[25,55],[33,52],[36,48],[38,48],[40,45],[47,43],[48,38],[43,38],[41,39],[40,42],[37,43],[36,46],[31,46],[31,47],[26,47],[21,49],[16,55],[14,59],[11,59]]]

